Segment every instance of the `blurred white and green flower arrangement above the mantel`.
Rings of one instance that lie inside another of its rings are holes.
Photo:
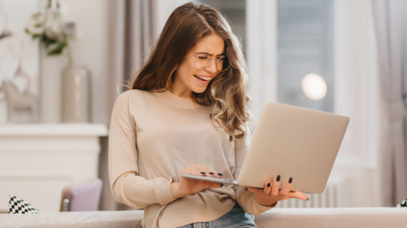
[[[66,51],[71,59],[69,38],[74,38],[75,24],[64,21],[59,0],[43,0],[42,6],[42,11],[31,16],[29,26],[25,28],[26,33],[44,43],[47,56],[60,55]]]

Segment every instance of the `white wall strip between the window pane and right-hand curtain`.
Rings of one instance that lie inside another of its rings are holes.
[[[371,1],[336,0],[336,111],[351,117],[334,175],[346,177],[349,206],[378,206],[381,108]]]

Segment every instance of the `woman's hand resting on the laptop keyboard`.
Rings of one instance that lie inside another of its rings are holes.
[[[216,172],[209,167],[199,164],[192,164],[187,166],[184,170],[181,170],[181,174],[201,175],[206,177],[218,177],[218,178],[223,177],[221,173]],[[213,187],[222,187],[222,185],[215,182],[193,180],[186,177],[182,177],[180,175],[179,182],[171,183],[171,195],[174,198],[180,198]]]

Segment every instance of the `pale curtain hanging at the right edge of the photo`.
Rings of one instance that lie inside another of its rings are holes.
[[[394,207],[407,198],[406,161],[406,11],[404,0],[372,0],[378,72],[386,107],[381,163],[383,205]]]

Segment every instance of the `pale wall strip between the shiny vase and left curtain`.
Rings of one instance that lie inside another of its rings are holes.
[[[109,0],[64,1],[69,19],[76,22],[80,37],[72,42],[77,64],[91,71],[91,122],[107,123],[109,110],[107,78],[109,77]]]

